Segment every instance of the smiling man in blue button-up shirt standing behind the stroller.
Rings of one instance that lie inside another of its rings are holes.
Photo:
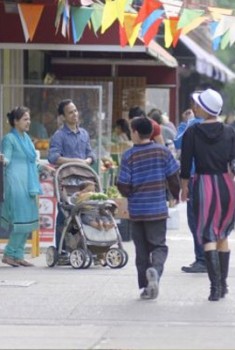
[[[96,156],[91,149],[88,132],[79,126],[79,112],[71,99],[62,100],[58,106],[58,115],[63,116],[63,125],[51,137],[48,161],[60,166],[68,162],[91,165]],[[58,207],[56,218],[56,248],[59,249],[64,214]],[[63,247],[65,249],[65,247]]]

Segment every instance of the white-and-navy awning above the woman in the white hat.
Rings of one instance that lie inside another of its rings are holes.
[[[196,56],[196,71],[198,73],[222,82],[235,79],[233,71],[193,39],[184,35],[180,37],[180,41]]]

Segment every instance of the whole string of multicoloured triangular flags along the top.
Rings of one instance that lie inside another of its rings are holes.
[[[183,0],[143,0],[138,9],[133,0],[55,0],[55,5],[55,35],[61,31],[65,38],[71,36],[74,44],[79,42],[86,28],[100,36],[116,21],[122,47],[134,46],[138,37],[148,45],[160,28],[163,28],[165,47],[175,47],[181,35],[187,35],[200,25],[209,27],[214,50],[223,50],[235,42],[232,9],[209,6],[191,9],[184,6]],[[18,4],[26,42],[33,41],[46,8],[43,4]]]

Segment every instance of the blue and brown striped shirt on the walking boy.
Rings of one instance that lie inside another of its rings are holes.
[[[154,142],[134,145],[123,153],[117,186],[128,198],[130,219],[167,218],[166,180],[178,170],[169,149]]]

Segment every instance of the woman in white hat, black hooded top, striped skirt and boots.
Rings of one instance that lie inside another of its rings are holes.
[[[212,89],[193,94],[204,121],[188,128],[182,140],[181,200],[188,199],[188,181],[195,162],[193,206],[197,235],[202,241],[211,289],[209,300],[228,293],[228,236],[235,215],[235,132],[218,121],[223,100]],[[229,169],[229,170],[228,170]]]

